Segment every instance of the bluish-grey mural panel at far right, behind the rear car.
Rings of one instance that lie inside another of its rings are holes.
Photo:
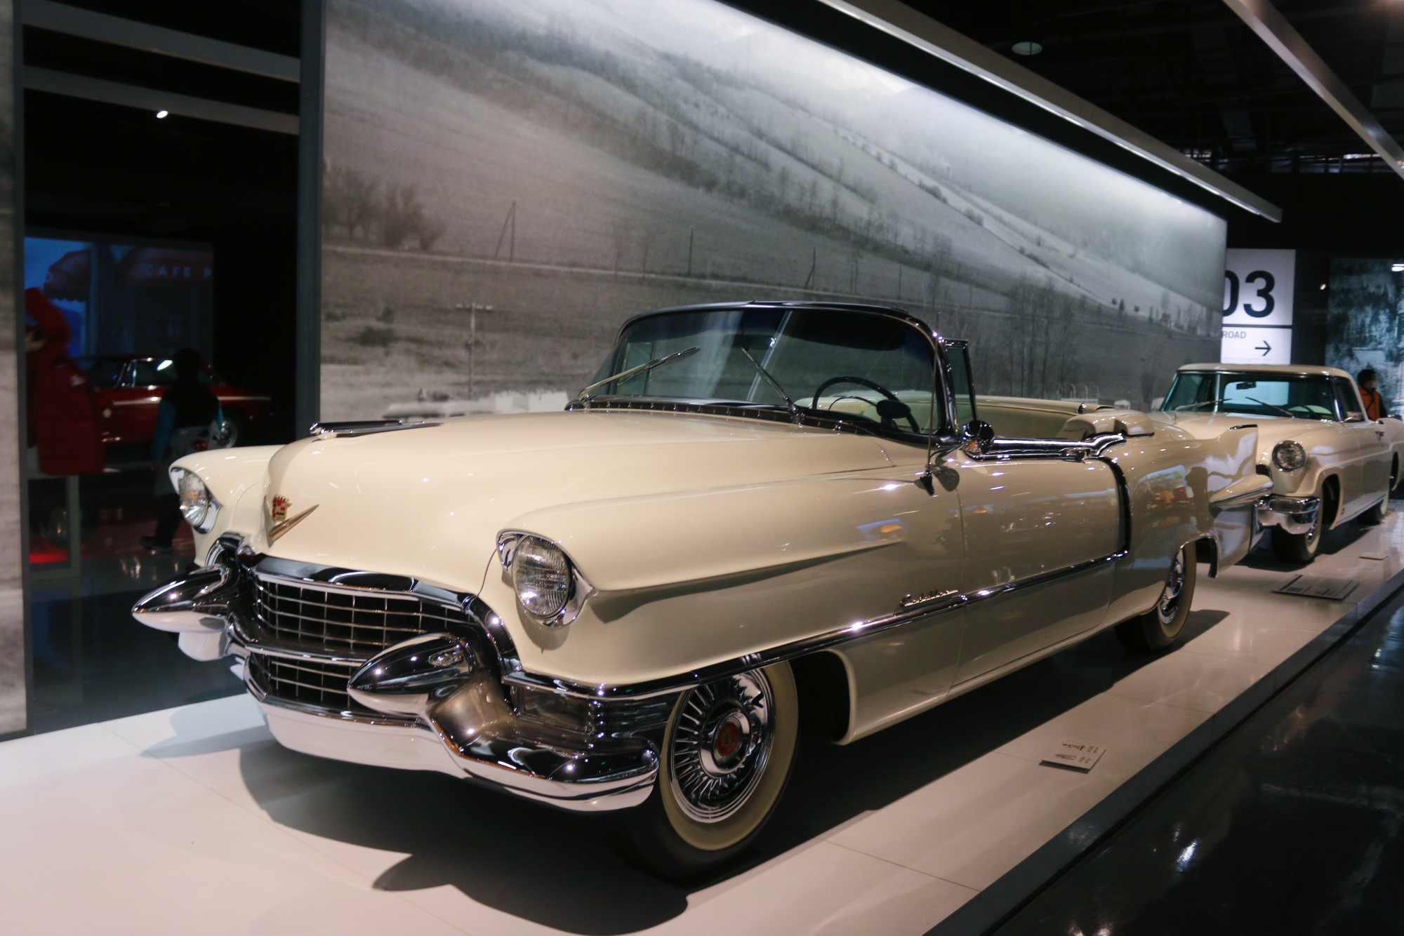
[[[1404,275],[1389,260],[1331,261],[1325,362],[1359,373],[1373,368],[1387,413],[1404,404]]]

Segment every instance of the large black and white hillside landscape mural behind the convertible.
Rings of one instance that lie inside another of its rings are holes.
[[[863,300],[980,389],[1216,359],[1224,222],[713,0],[331,0],[324,420],[557,408],[621,321]]]

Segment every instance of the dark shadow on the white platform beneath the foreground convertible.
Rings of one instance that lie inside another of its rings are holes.
[[[1193,612],[1185,641],[1226,616]],[[717,878],[691,885],[625,864],[609,848],[602,817],[557,811],[445,775],[324,761],[286,751],[267,735],[240,747],[240,770],[275,822],[404,855],[379,874],[376,888],[451,885],[542,926],[630,933],[681,915],[691,894],[757,873],[994,751],[1154,658],[1123,650],[1104,631],[862,741],[840,747],[802,737],[789,789],[757,845]],[[178,737],[166,745],[163,754],[184,752]]]

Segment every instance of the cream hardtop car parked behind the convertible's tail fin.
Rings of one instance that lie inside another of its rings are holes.
[[[1292,563],[1310,563],[1328,529],[1384,519],[1400,479],[1404,422],[1366,418],[1355,379],[1337,368],[1189,363],[1154,418],[1196,438],[1257,427],[1257,470],[1272,479],[1258,518]]]

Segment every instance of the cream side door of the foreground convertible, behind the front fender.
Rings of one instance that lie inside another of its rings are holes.
[[[984,456],[960,449],[951,467],[970,596],[959,685],[1102,623],[1112,566],[1101,560],[1122,547],[1122,507],[1111,464],[1021,452],[1016,439]]]

